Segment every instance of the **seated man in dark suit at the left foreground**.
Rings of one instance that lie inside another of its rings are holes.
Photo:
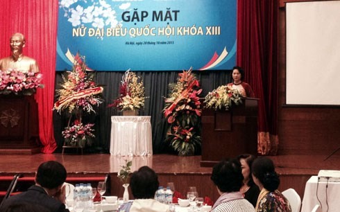
[[[15,204],[37,204],[51,212],[69,211],[65,209],[65,187],[67,172],[57,161],[46,161],[37,168],[35,185],[28,191],[9,197],[0,211],[14,207]],[[19,211],[19,210],[18,210]]]

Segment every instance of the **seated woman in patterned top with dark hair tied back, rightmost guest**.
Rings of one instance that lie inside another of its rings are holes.
[[[275,172],[273,161],[267,157],[259,157],[253,162],[251,170],[254,182],[260,188],[255,210],[291,212],[288,200],[277,190],[280,179]]]

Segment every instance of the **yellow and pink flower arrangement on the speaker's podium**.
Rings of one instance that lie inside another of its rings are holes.
[[[232,89],[230,85],[221,85],[205,96],[204,103],[206,108],[228,110],[232,103],[241,104],[242,98],[237,89]]]

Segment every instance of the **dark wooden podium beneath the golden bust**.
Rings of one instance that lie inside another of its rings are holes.
[[[0,102],[0,154],[40,153],[34,97],[1,95]]]

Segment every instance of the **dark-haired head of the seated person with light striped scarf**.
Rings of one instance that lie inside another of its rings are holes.
[[[226,159],[220,161],[212,168],[211,179],[223,193],[239,191],[244,179],[239,160]]]

